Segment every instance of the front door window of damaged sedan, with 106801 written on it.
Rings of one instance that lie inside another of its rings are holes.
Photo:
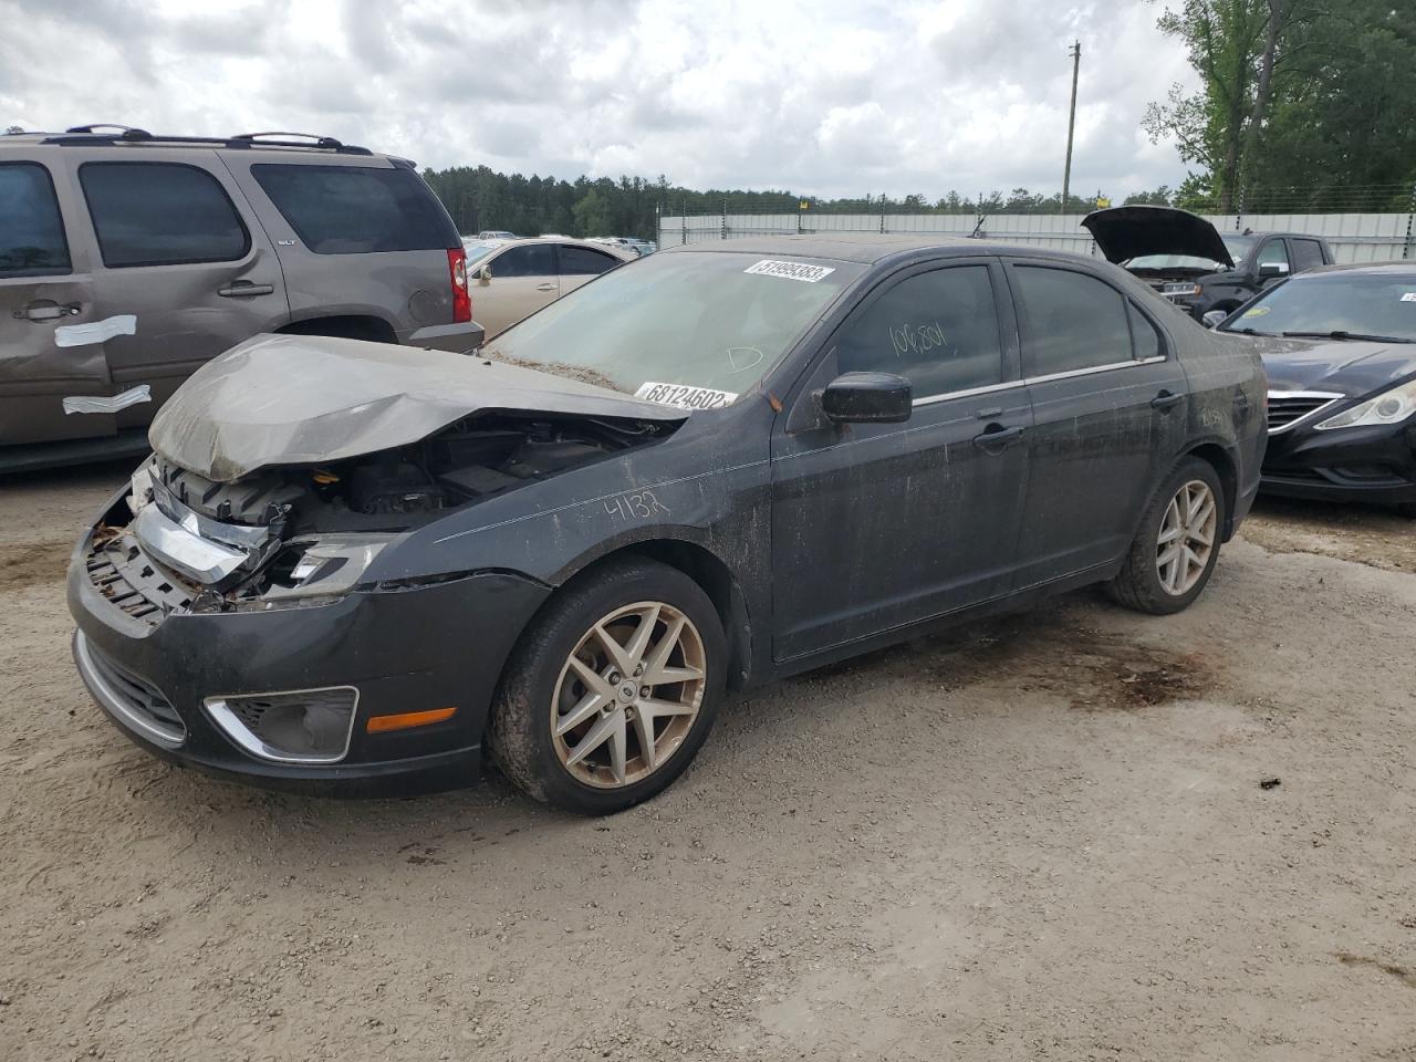
[[[893,372],[915,398],[1003,381],[998,310],[987,266],[950,266],[892,285],[835,338],[841,372]]]

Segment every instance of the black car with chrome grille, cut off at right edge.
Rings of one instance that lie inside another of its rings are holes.
[[[1266,491],[1416,515],[1416,263],[1296,276],[1216,331],[1260,344]]]

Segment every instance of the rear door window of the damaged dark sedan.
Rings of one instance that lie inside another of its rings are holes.
[[[1027,337],[1025,377],[1131,360],[1126,300],[1114,287],[1086,273],[1046,266],[1015,266],[1012,278]]]

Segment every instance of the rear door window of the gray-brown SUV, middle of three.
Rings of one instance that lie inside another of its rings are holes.
[[[225,188],[181,163],[84,163],[79,184],[112,268],[232,262],[251,235]]]

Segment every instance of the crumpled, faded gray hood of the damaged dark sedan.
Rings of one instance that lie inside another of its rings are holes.
[[[256,336],[202,365],[153,419],[167,460],[218,483],[426,439],[481,412],[677,422],[657,402],[447,351],[323,336]]]

